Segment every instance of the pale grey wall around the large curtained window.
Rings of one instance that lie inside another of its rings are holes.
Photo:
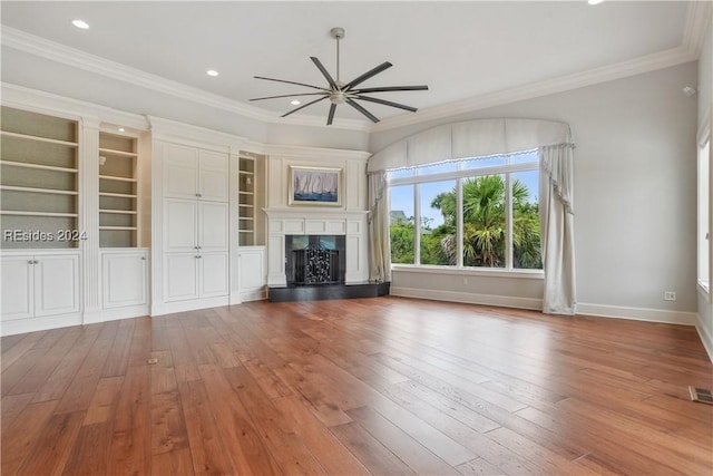
[[[438,124],[525,117],[566,122],[575,150],[575,223],[579,311],[695,322],[696,101],[681,88],[696,64],[374,133],[370,150]],[[470,284],[476,281],[475,284]],[[537,294],[530,280],[469,280],[471,293],[515,301]],[[459,283],[460,282],[460,283]],[[392,286],[466,290],[462,281],[394,273]],[[663,292],[675,291],[676,302]]]

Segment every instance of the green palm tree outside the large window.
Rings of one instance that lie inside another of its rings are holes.
[[[498,268],[505,265],[506,190],[501,175],[468,178],[463,190],[463,264],[468,266]],[[516,268],[539,265],[539,218],[537,204],[527,202],[529,191],[519,179],[512,182],[512,241]],[[441,239],[441,247],[456,263],[455,237],[457,220],[457,190],[441,193],[431,202],[440,210],[443,226],[452,233]]]

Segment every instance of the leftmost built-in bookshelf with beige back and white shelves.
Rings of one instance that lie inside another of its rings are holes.
[[[78,123],[11,107],[1,115],[0,246],[76,247]]]

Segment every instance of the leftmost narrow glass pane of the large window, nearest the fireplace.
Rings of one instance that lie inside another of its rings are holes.
[[[391,193],[390,237],[391,262],[413,264],[413,185],[400,185],[389,188]]]

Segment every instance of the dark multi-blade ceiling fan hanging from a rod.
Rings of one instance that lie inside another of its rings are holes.
[[[369,71],[364,72],[361,76],[358,76],[356,78],[352,79],[349,82],[342,82],[339,77],[339,41],[342,38],[344,38],[344,29],[332,28],[330,30],[330,35],[332,38],[336,40],[336,79],[332,78],[332,76],[329,74],[326,68],[324,68],[324,66],[322,65],[322,61],[320,61],[318,58],[313,56],[310,57],[312,62],[314,62],[314,66],[316,66],[316,68],[322,74],[322,76],[324,76],[324,78],[326,79],[328,87],[305,85],[304,82],[287,81],[284,79],[265,78],[264,76],[255,76],[254,77],[255,79],[265,79],[267,81],[277,81],[277,82],[286,82],[289,85],[305,86],[307,88],[319,89],[320,93],[300,93],[300,94],[291,94],[291,95],[256,97],[250,100],[276,99],[276,98],[297,97],[297,96],[320,96],[319,98],[310,103],[306,103],[297,108],[294,108],[283,114],[281,117],[289,116],[293,113],[296,113],[300,109],[304,109],[305,107],[312,106],[313,104],[316,104],[321,100],[329,99],[330,103],[332,104],[330,106],[329,116],[326,117],[328,126],[331,125],[332,122],[334,120],[334,111],[336,110],[336,106],[339,106],[340,104],[348,104],[354,109],[359,110],[364,116],[367,116],[371,122],[378,123],[379,118],[373,114],[371,114],[369,110],[367,110],[362,105],[358,104],[356,103],[358,100],[365,100],[369,103],[382,104],[384,106],[398,107],[399,109],[409,110],[411,113],[416,113],[418,110],[416,107],[411,107],[403,104],[393,103],[390,100],[384,100],[375,97],[364,96],[364,95],[371,94],[371,93],[388,93],[388,91],[422,91],[422,90],[428,90],[428,86],[383,86],[380,88],[359,88],[358,87],[359,85],[364,82],[367,79],[373,76],[377,76],[378,74],[384,71],[388,68],[391,68],[393,65],[391,65],[389,61],[382,62],[381,65],[370,69]]]

